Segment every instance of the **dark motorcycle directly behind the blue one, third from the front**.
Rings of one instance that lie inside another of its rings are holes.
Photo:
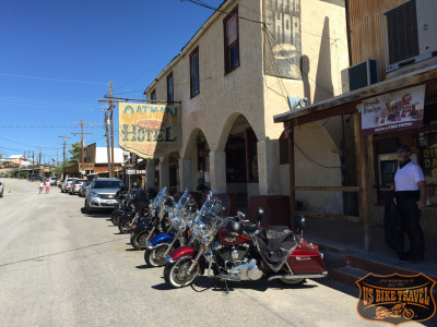
[[[130,231],[130,243],[135,250],[144,250],[146,242],[166,229],[168,213],[175,207],[175,199],[164,187],[150,204],[149,215],[134,220]]]

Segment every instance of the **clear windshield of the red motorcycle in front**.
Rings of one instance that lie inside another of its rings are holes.
[[[192,233],[202,243],[209,243],[226,219],[231,199],[226,193],[211,192],[192,222]]]

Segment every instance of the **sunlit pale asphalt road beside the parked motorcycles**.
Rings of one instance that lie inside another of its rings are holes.
[[[226,294],[223,281],[199,277],[169,289],[110,213],[82,214],[84,199],[58,187],[38,194],[37,183],[2,182],[0,326],[381,325],[357,315],[355,289],[329,278],[302,287],[229,282]]]

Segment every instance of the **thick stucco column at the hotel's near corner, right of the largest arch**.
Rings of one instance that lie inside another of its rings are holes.
[[[257,143],[260,195],[281,194],[280,143],[267,137]]]

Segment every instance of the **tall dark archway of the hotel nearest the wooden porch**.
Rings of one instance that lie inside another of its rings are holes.
[[[239,208],[248,207],[248,198],[258,195],[257,135],[247,119],[239,114],[229,130],[226,154],[226,190],[234,193]]]

